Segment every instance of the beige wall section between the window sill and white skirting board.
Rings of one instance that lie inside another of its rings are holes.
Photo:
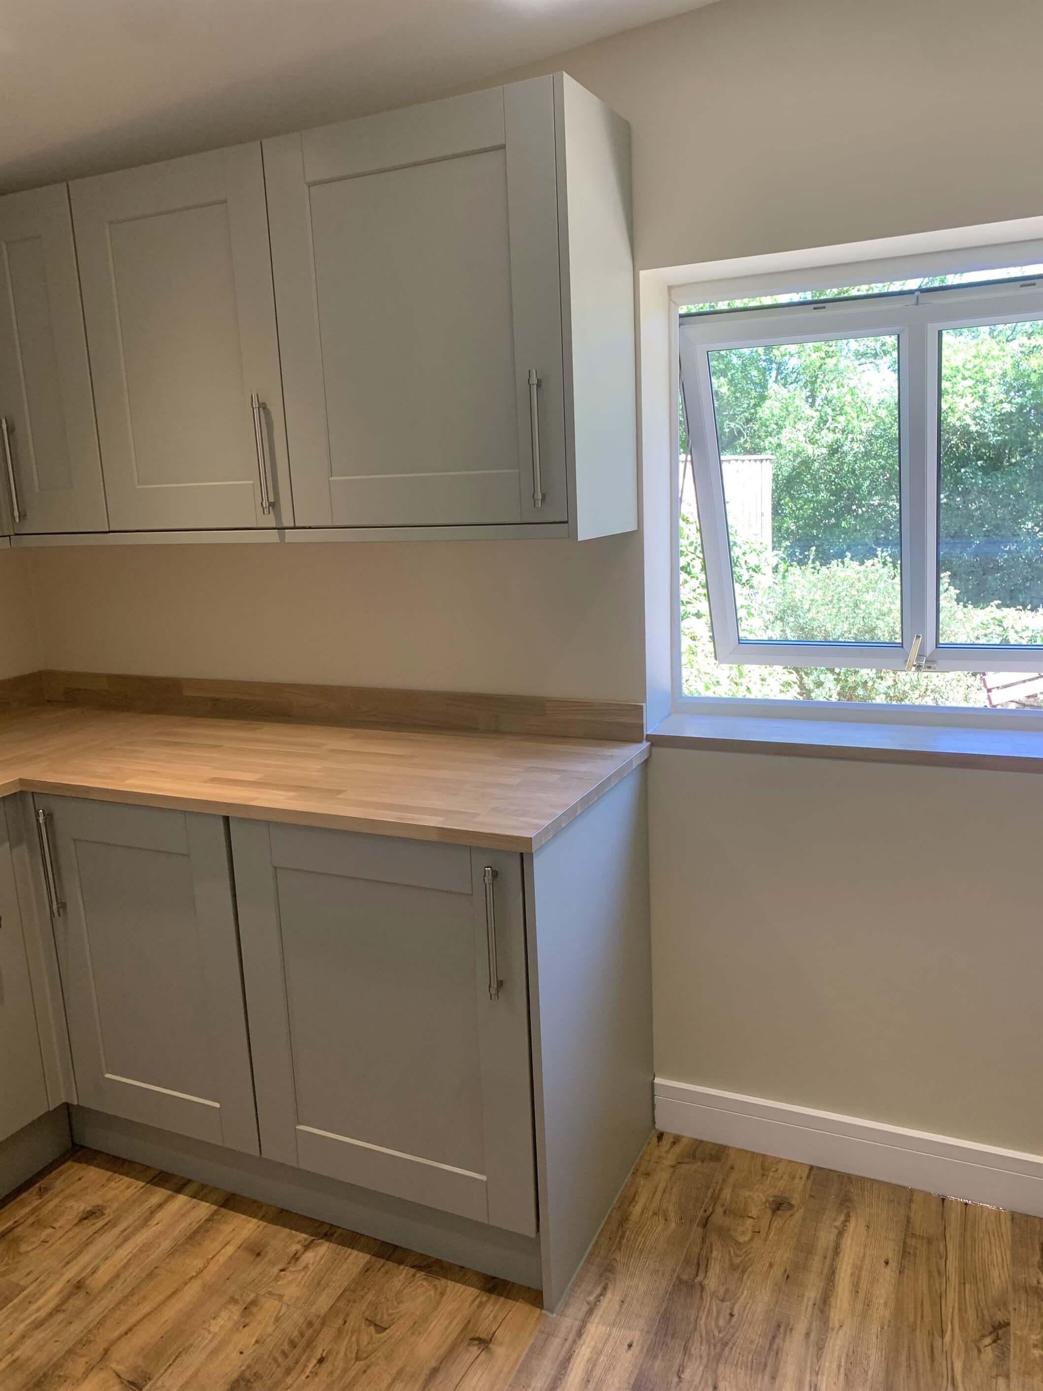
[[[658,748],[649,790],[659,1077],[1043,1153],[1043,780]]]

